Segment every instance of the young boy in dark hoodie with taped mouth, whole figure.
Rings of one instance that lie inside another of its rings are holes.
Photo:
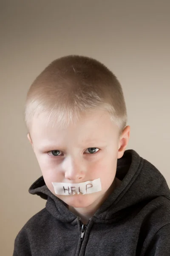
[[[53,61],[31,85],[28,140],[46,207],[20,230],[13,256],[170,256],[170,189],[133,150],[121,85],[92,58]]]

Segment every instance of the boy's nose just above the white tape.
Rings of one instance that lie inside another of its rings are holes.
[[[65,172],[65,179],[74,181],[75,183],[81,181],[85,177],[85,166],[78,161],[69,159],[63,166]]]

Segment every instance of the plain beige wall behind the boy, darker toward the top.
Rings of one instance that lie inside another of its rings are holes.
[[[40,175],[26,137],[23,108],[31,82],[62,55],[105,63],[125,94],[128,148],[147,158],[170,185],[170,1],[0,1],[0,255],[45,206],[28,194]]]

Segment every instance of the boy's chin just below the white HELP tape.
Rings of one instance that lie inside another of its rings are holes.
[[[93,204],[94,201],[99,197],[98,193],[88,194],[88,195],[57,195],[59,199],[61,199],[65,204],[70,207],[80,208],[80,207],[88,207]]]

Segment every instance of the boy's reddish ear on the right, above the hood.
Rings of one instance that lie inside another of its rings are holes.
[[[125,152],[130,138],[130,126],[126,126],[119,139],[118,159],[121,158]]]

